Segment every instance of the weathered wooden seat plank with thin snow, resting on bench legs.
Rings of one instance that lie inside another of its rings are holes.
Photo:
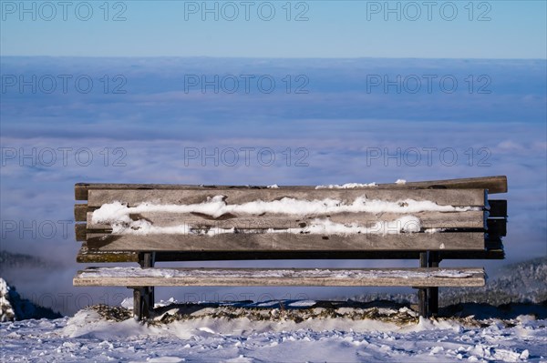
[[[78,271],[74,286],[481,287],[482,268],[139,268]]]

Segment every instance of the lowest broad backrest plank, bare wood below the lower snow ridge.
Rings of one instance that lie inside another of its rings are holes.
[[[88,247],[102,251],[483,250],[484,233],[404,233],[386,236],[288,233],[139,236],[88,233]]]

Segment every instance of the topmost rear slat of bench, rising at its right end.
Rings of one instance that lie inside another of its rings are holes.
[[[75,197],[76,200],[88,200],[88,190],[93,189],[253,189],[253,188],[267,188],[263,187],[230,187],[230,186],[189,186],[189,185],[168,185],[168,184],[89,184],[89,183],[77,183],[75,185]],[[315,187],[309,186],[289,186],[280,187],[281,189],[301,189],[308,190]],[[378,184],[377,188],[385,189],[410,189],[410,188],[446,188],[446,189],[488,189],[489,194],[506,193],[507,192],[507,176],[481,176],[481,177],[467,177],[459,179],[446,179],[446,180],[429,180],[420,182],[408,182],[407,184]]]

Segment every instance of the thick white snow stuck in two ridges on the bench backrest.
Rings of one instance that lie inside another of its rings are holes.
[[[229,205],[225,202],[224,196],[215,196],[206,201],[190,205],[166,205],[154,204],[151,202],[141,203],[136,207],[128,207],[119,201],[104,204],[93,212],[92,222],[95,224],[111,225],[113,234],[206,234],[215,236],[223,233],[234,233],[234,228],[212,227],[206,231],[194,230],[187,224],[170,227],[156,227],[146,219],[133,220],[130,214],[146,212],[164,213],[200,213],[211,217],[221,217],[225,214],[239,214],[260,216],[268,214],[284,215],[327,215],[336,213],[399,213],[409,214],[424,211],[439,212],[462,212],[476,210],[477,207],[453,207],[439,206],[428,200],[404,199],[396,202],[385,200],[368,199],[366,196],[356,197],[351,203],[344,203],[340,200],[325,198],[322,200],[302,200],[291,197],[284,197],[281,200],[265,202],[255,200],[243,204]],[[315,218],[309,226],[298,228],[268,229],[265,233],[309,233],[309,234],[391,234],[419,232],[421,223],[418,217],[402,216],[392,221],[378,221],[373,227],[363,227],[356,223],[339,224],[327,218]],[[435,231],[433,231],[435,232]]]

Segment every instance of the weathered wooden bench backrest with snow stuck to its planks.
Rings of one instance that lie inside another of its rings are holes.
[[[505,176],[351,188],[77,184],[87,200],[75,206],[78,258],[480,256],[501,251],[506,203],[488,195],[505,191]]]

